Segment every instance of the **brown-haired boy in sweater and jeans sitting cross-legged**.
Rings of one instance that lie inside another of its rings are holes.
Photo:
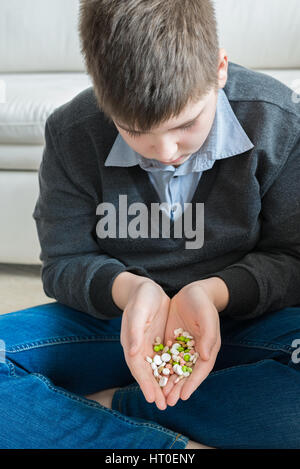
[[[93,88],[47,120],[34,211],[58,303],[0,318],[8,444],[299,447],[299,105],[228,63],[209,0],[80,13]],[[160,388],[145,356],[178,327],[200,358]]]

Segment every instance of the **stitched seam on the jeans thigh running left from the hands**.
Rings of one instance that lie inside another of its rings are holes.
[[[14,345],[13,347],[7,348],[6,352],[16,353],[24,350],[31,350],[33,348],[47,347],[51,345],[63,345],[70,343],[82,343],[82,342],[97,342],[97,341],[120,341],[120,336],[68,336],[68,337],[53,337],[51,339],[37,340],[25,344]]]

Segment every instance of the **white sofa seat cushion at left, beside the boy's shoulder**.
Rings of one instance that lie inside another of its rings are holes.
[[[43,145],[47,117],[92,84],[89,75],[81,72],[0,77],[6,85],[6,102],[0,105],[0,145]]]

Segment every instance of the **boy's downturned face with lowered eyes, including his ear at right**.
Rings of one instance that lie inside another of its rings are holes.
[[[227,81],[226,51],[220,49],[219,88]],[[180,166],[205,142],[214,122],[218,91],[212,89],[197,103],[189,104],[176,118],[164,122],[151,132],[140,133],[114,121],[125,142],[144,158],[165,165]],[[133,132],[133,133],[132,133]]]

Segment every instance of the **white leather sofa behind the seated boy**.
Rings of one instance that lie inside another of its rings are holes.
[[[300,93],[299,0],[215,4],[229,60]],[[45,122],[91,86],[80,55],[78,11],[78,0],[0,2],[0,263],[40,264],[32,212]]]

